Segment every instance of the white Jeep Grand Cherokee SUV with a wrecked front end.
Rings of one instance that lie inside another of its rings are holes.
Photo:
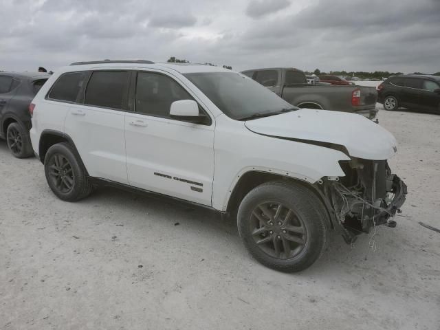
[[[34,152],[59,198],[116,184],[234,214],[252,256],[283,272],[314,263],[329,230],[349,243],[394,226],[405,200],[386,162],[391,133],[361,115],[296,109],[229,69],[72,63],[30,109]]]

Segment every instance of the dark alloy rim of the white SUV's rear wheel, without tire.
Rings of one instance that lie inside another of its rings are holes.
[[[58,191],[66,193],[72,190],[75,177],[72,164],[60,154],[55,154],[49,160],[49,177]]]

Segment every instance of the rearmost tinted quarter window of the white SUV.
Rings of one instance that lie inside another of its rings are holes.
[[[88,74],[89,72],[68,72],[62,74],[56,80],[47,97],[52,100],[75,102]]]

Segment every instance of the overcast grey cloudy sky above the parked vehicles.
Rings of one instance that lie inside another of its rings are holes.
[[[439,72],[440,0],[0,0],[0,69],[170,56]]]

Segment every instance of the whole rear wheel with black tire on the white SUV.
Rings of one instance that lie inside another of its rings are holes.
[[[86,170],[68,143],[54,144],[44,159],[47,184],[63,201],[78,201],[87,197],[92,186]]]

